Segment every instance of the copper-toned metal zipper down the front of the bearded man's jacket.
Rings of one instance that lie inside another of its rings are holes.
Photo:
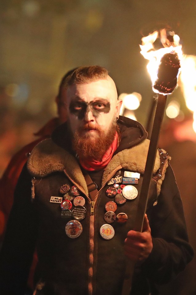
[[[89,253],[89,270],[88,270],[88,295],[93,294],[93,285],[92,285],[92,277],[93,277],[93,250],[94,250],[94,223],[95,223],[95,218],[94,218],[94,210],[95,210],[95,204],[96,200],[98,198],[98,195],[100,191],[103,189],[103,187],[106,185],[106,183],[115,175],[115,173],[121,169],[122,167],[116,168],[116,170],[113,171],[112,175],[110,175],[110,178],[106,179],[100,190],[95,196],[94,201],[92,201],[88,195],[84,193],[83,190],[81,190],[80,187],[78,187],[77,183],[71,179],[71,177],[67,174],[67,172],[64,170],[65,175],[68,177],[68,179],[87,197],[88,202],[90,204],[90,241],[89,241],[89,246],[90,246],[90,253]]]

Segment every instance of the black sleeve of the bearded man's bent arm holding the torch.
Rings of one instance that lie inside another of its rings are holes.
[[[185,268],[194,254],[188,243],[182,201],[170,166],[149,224],[153,249],[142,265],[143,272],[155,283],[167,283]]]

